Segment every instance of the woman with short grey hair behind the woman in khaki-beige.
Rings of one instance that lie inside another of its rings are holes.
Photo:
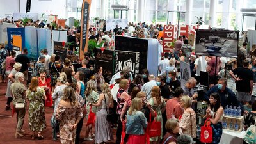
[[[7,83],[6,93],[5,93],[5,97],[8,97],[6,102],[6,107],[5,107],[6,111],[11,110],[10,104],[13,99],[11,95],[10,86],[15,81],[15,74],[20,71],[21,66],[22,66],[21,63],[15,63],[13,65],[13,69],[11,70],[10,74],[8,74],[8,83]]]

